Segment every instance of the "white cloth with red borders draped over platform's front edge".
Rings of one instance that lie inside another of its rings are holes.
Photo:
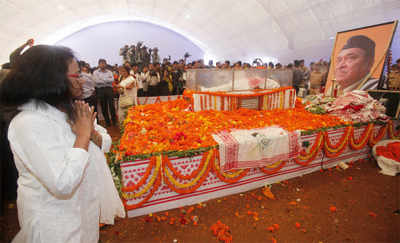
[[[213,134],[224,171],[263,167],[295,158],[300,148],[299,137],[300,131],[288,132],[277,126]]]

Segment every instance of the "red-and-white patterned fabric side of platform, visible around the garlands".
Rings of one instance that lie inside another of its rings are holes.
[[[355,130],[358,137],[365,127]],[[378,127],[375,127],[378,130]],[[335,144],[342,136],[344,129],[332,130],[329,132],[331,143]],[[312,146],[315,141],[316,134],[302,136],[302,141],[309,141]],[[136,217],[149,213],[164,211],[168,209],[178,208],[182,206],[192,205],[199,202],[204,202],[209,199],[224,197],[227,195],[237,194],[249,191],[255,188],[272,184],[282,180],[309,174],[320,169],[326,169],[336,166],[339,162],[350,162],[358,159],[367,158],[371,154],[369,146],[365,146],[361,150],[351,150],[347,147],[343,153],[337,158],[327,158],[324,152],[320,151],[317,157],[307,166],[301,166],[294,161],[289,161],[283,168],[272,175],[263,173],[260,169],[251,169],[249,173],[240,181],[232,184],[222,182],[218,177],[210,171],[204,183],[193,193],[178,194],[172,191],[166,184],[162,184],[154,195],[143,204],[140,208],[129,210],[128,217]],[[171,159],[171,163],[178,171],[183,174],[189,174],[194,169],[198,168],[201,161],[201,155],[193,158]],[[123,185],[137,182],[144,174],[148,166],[148,160],[137,160],[121,163],[123,175]],[[154,169],[153,169],[154,170]],[[143,200],[142,197],[126,201],[126,205],[137,204]]]

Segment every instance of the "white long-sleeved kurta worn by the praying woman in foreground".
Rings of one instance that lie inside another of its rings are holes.
[[[113,223],[125,211],[104,152],[111,138],[101,126],[102,148],[73,148],[67,116],[33,101],[20,107],[8,130],[18,169],[18,219],[13,242],[97,243],[99,219]]]

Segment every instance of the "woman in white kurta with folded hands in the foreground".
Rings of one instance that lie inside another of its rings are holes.
[[[125,216],[104,156],[111,138],[92,107],[72,102],[81,88],[71,50],[55,46],[30,48],[0,86],[0,102],[19,105],[8,129],[19,173],[13,242],[97,243],[99,221]]]

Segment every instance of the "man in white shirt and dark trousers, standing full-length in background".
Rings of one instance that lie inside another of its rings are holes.
[[[96,96],[101,104],[101,111],[107,126],[117,125],[117,116],[114,107],[114,92],[112,83],[114,81],[113,73],[106,69],[107,61],[99,59],[99,68],[93,72],[93,79],[96,83]]]

